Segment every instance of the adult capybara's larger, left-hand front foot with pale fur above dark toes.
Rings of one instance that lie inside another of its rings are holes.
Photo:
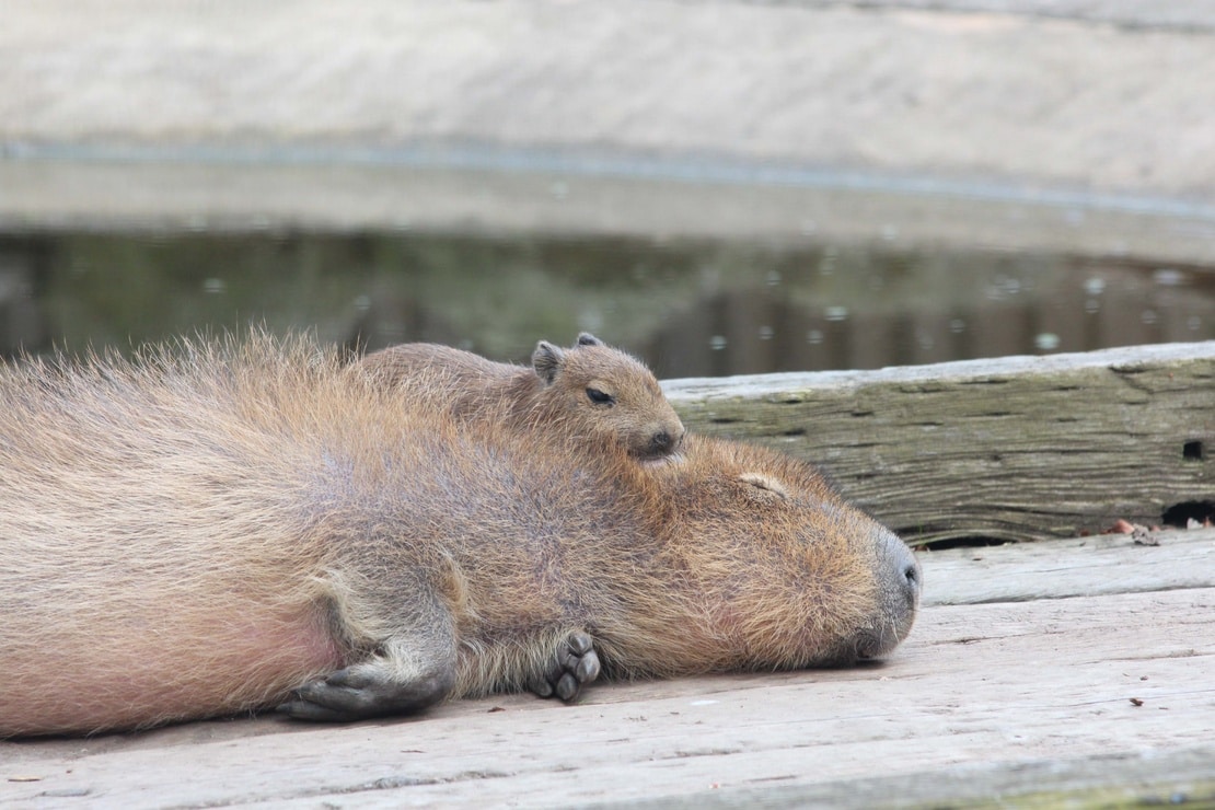
[[[300,686],[278,712],[300,720],[349,723],[437,703],[456,680],[453,658],[414,662],[407,645],[385,645],[379,656]]]

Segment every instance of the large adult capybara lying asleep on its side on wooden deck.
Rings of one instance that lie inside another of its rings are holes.
[[[0,366],[0,736],[882,656],[908,548],[806,464],[459,424],[304,339]]]

